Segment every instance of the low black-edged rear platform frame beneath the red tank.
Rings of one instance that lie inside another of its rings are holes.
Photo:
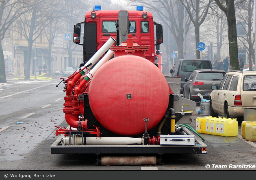
[[[183,128],[188,135],[193,135]],[[195,137],[195,145],[66,145],[63,135],[51,146],[51,154],[206,154],[207,146]]]

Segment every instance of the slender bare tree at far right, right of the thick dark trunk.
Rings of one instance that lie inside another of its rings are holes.
[[[249,70],[252,71],[252,63],[254,63],[254,38],[252,39],[252,21],[253,17],[252,15],[254,11],[254,1],[248,0],[247,2],[242,1],[238,2],[236,4],[236,15],[239,18],[239,21],[237,22],[238,25],[241,25],[242,32],[245,32],[244,34],[241,34],[238,36],[238,39],[243,44],[243,47],[246,49],[248,54],[248,63],[249,63]],[[243,24],[244,23],[244,24]],[[247,26],[247,28],[246,28]]]

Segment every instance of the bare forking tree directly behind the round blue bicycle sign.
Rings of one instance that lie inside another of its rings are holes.
[[[195,27],[195,45],[200,42],[200,25],[204,22],[212,0],[204,2],[200,0],[180,0],[187,9],[189,17]],[[194,13],[193,13],[194,12]],[[196,49],[196,58],[200,59],[200,51]]]

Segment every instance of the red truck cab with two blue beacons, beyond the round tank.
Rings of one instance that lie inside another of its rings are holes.
[[[80,36],[81,24],[84,24],[83,39]],[[132,34],[133,41],[138,45],[149,46],[148,51],[145,51],[145,58],[154,63],[154,46],[159,50],[159,45],[163,43],[163,28],[153,20],[152,13],[143,11],[143,6],[137,6],[137,11],[101,10],[101,6],[95,6],[94,11],[86,13],[85,21],[74,27],[74,42],[83,45],[84,49],[82,64],[85,64],[110,37],[117,39],[116,45],[120,45],[126,41],[128,33]],[[159,54],[159,51],[156,51],[156,54]]]

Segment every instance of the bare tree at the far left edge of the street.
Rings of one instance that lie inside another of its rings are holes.
[[[1,0],[0,1],[0,42],[11,26],[11,24],[28,11],[26,0]],[[4,52],[0,43],[0,83],[6,83]]]

